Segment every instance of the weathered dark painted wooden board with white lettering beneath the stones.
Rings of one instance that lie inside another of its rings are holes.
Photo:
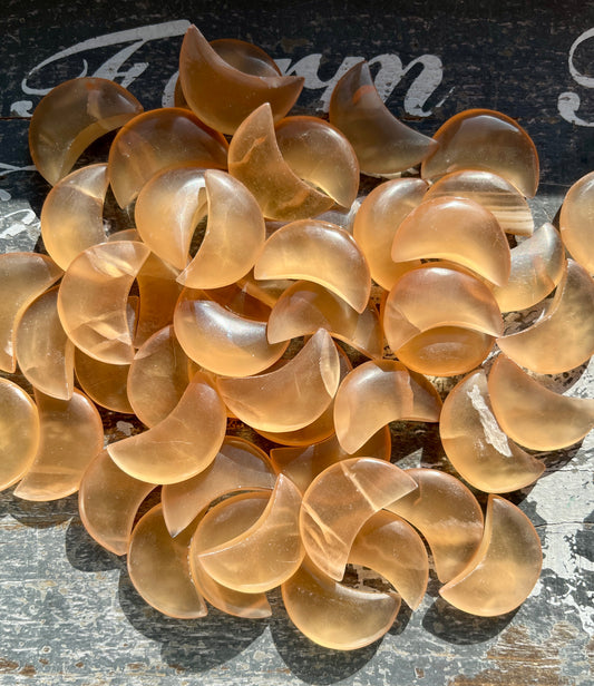
[[[293,63],[321,53],[327,61],[319,80],[329,80],[349,56],[393,53],[405,65],[422,55],[439,57],[442,71],[435,92],[430,80],[419,81],[429,94],[423,107],[430,115],[415,115],[411,79],[395,89],[389,100],[392,110],[415,119],[425,133],[467,107],[500,108],[518,117],[544,160],[543,184],[533,203],[537,224],[553,219],[571,183],[594,168],[594,94],[592,84],[575,78],[576,74],[594,78],[594,40],[584,39],[575,48],[573,72],[568,67],[572,45],[594,27],[583,3],[557,11],[548,3],[519,2],[446,2],[435,9],[431,3],[367,2],[364,10],[358,3],[318,8],[305,2],[288,10],[284,22],[283,12],[275,13],[267,4],[255,11],[226,2],[97,2],[88,16],[88,6],[79,0],[55,3],[58,10],[47,9],[48,4],[25,7],[9,0],[0,9],[2,251],[36,246],[47,193],[45,183],[27,168],[23,115],[27,101],[35,105],[39,96],[25,92],[21,80],[42,60],[82,40],[164,22],[192,20],[208,38],[254,40]],[[160,105],[175,71],[179,30],[177,37],[172,32],[171,38],[138,48],[119,67],[121,74],[137,62],[146,65],[130,88],[137,88],[147,107]],[[76,76],[82,57],[94,72],[124,47],[106,45],[58,60],[45,68],[42,78],[41,72],[31,77],[30,86],[50,87]],[[432,65],[434,76],[439,76]],[[310,79],[314,82],[313,76]],[[320,87],[306,91],[304,109],[320,107],[322,92]],[[559,110],[564,92],[581,97],[575,111],[582,125],[567,121]],[[549,383],[576,395],[590,389],[592,395],[592,373],[591,366]],[[123,418],[109,419],[114,438],[123,438],[128,429],[126,423],[116,424],[118,419]],[[395,425],[393,439],[399,464],[444,465],[435,428]],[[125,560],[101,550],[86,535],[76,497],[27,503],[6,491],[0,493],[0,684],[590,685],[594,682],[593,453],[591,434],[568,451],[545,455],[547,471],[537,484],[512,494],[536,526],[545,553],[541,580],[516,612],[495,619],[462,616],[439,599],[434,578],[418,611],[401,611],[383,640],[345,654],[301,637],[277,595],[271,599],[270,620],[240,620],[216,610],[194,621],[163,617],[135,592]]]

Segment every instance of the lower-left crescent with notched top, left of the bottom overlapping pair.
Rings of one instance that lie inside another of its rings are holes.
[[[134,528],[128,548],[128,574],[136,590],[159,612],[179,619],[207,614],[189,570],[189,540],[194,528],[172,538],[160,504]]]

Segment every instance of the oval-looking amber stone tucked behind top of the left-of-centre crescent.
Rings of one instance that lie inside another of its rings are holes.
[[[173,326],[139,347],[127,375],[127,395],[143,424],[154,427],[175,409],[189,383],[187,362]]]

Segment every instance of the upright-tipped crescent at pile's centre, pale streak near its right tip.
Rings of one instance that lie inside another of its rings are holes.
[[[340,362],[330,334],[320,329],[284,366],[244,379],[217,379],[231,411],[263,431],[294,431],[328,408],[340,381]]]

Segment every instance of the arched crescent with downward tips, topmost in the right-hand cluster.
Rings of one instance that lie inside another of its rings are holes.
[[[428,257],[450,259],[498,286],[509,278],[507,238],[495,216],[475,200],[432,198],[400,224],[392,243],[392,259]]]

